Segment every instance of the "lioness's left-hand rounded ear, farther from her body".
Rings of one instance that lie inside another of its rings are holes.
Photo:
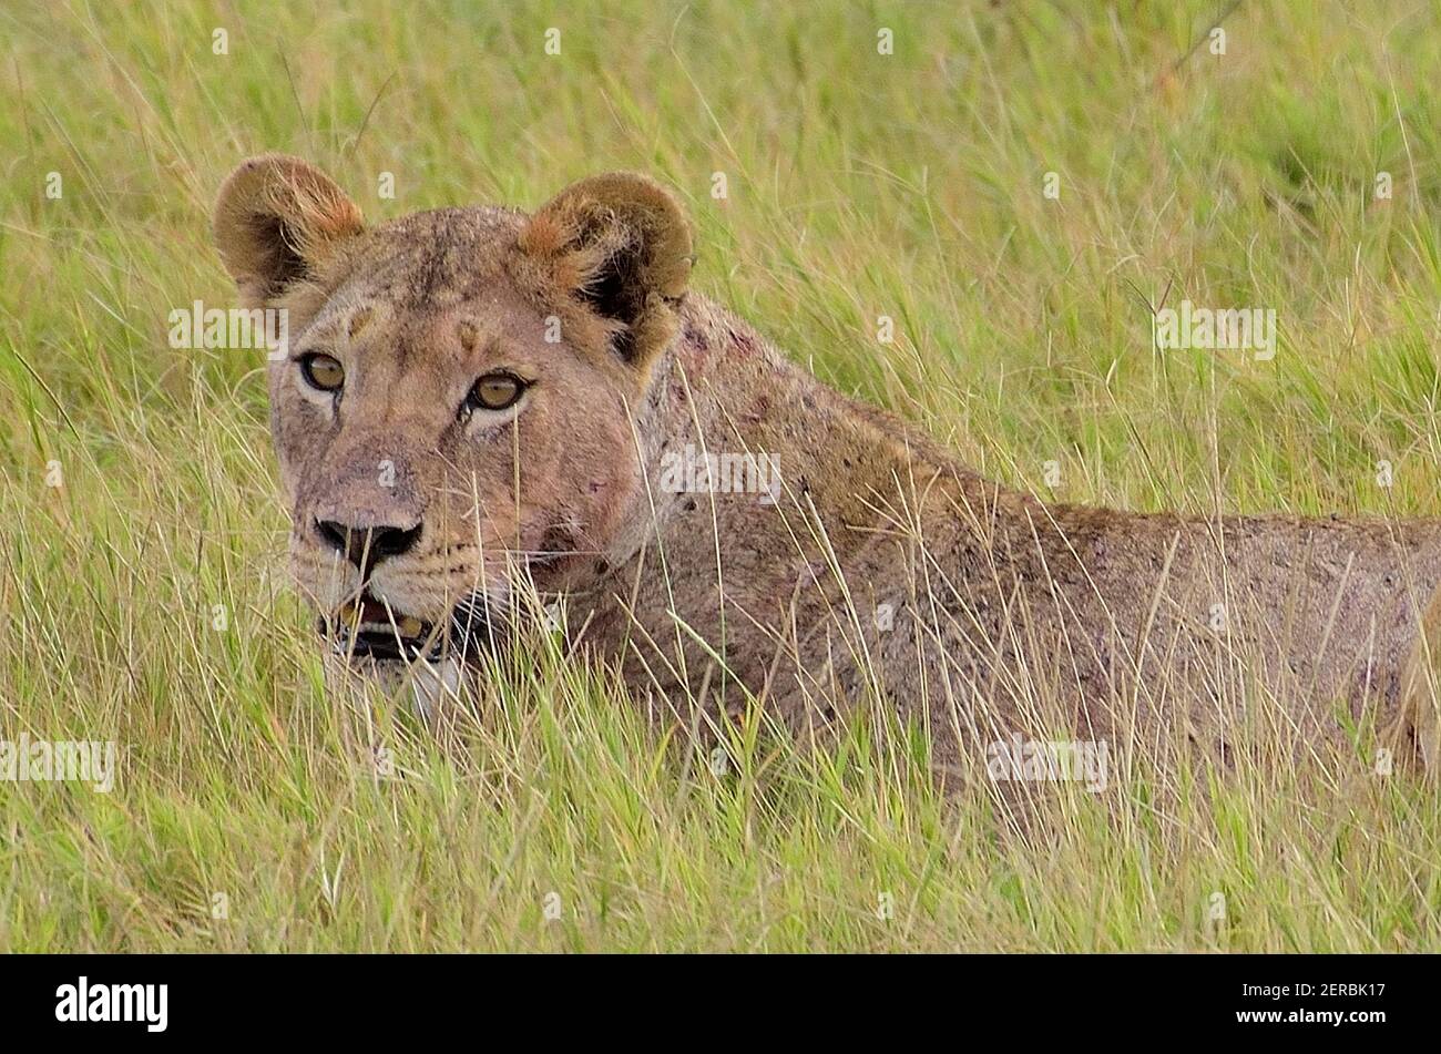
[[[215,202],[215,243],[246,307],[313,278],[363,229],[359,206],[334,180],[284,154],[244,161]]]

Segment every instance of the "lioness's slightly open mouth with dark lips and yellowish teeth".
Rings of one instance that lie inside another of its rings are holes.
[[[432,622],[396,611],[365,590],[330,618],[317,621],[320,635],[337,655],[382,661],[440,662],[447,654],[464,659],[493,645],[499,621],[483,595],[461,599],[442,631]],[[448,632],[445,632],[448,631]]]

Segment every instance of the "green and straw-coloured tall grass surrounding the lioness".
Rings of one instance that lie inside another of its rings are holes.
[[[1441,13],[1246,0],[1215,55],[1221,7],[0,9],[0,739],[118,749],[111,793],[0,783],[0,949],[1441,950],[1435,789],[1363,765],[1137,770],[1017,829],[865,730],[716,776],[553,655],[444,740],[379,708],[362,765],[259,354],[167,343],[232,302],[248,154],[372,219],[637,168],[696,288],[1007,484],[1441,514]],[[1157,354],[1183,298],[1274,308],[1278,353]]]

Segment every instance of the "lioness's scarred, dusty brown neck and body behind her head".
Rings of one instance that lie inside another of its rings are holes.
[[[718,694],[699,641],[723,641],[736,680],[793,726],[880,698],[929,727],[942,766],[1010,731],[1190,739],[1223,756],[1255,717],[1307,750],[1339,739],[1342,711],[1398,714],[1441,586],[1441,523],[1042,504],[820,384],[716,305],[692,298],[683,318],[647,475],[703,435],[775,455],[781,495],[653,492],[654,537],[571,613],[625,655],[633,684]]]

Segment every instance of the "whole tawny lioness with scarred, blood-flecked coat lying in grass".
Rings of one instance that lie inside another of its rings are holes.
[[[1435,760],[1441,523],[990,482],[689,291],[690,226],[646,177],[367,228],[265,156],[215,238],[248,307],[288,310],[291,562],[376,674],[454,685],[530,596],[637,695],[801,731],[879,707],[942,772],[1016,733],[1225,759],[1255,727],[1344,747],[1357,720]]]

